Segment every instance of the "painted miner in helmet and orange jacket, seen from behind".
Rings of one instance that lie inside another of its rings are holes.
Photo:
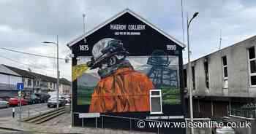
[[[148,76],[135,71],[120,40],[105,38],[92,49],[88,66],[99,68],[100,80],[91,95],[89,112],[149,111]]]

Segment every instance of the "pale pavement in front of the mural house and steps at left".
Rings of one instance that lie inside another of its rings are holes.
[[[37,107],[37,106],[36,106]],[[39,109],[39,108],[38,108]],[[48,110],[48,109],[45,109]],[[25,114],[23,114],[25,115]],[[18,116],[12,117],[1,117],[0,118],[0,134],[44,134],[44,133],[86,133],[86,134],[149,134],[138,131],[127,131],[127,130],[110,130],[100,129],[91,127],[71,127],[71,114],[61,114],[59,117],[50,119],[48,122],[44,122],[40,125],[34,125],[32,123],[18,122]]]

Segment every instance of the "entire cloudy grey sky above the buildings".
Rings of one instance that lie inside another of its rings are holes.
[[[56,47],[41,42],[54,42],[56,35],[59,35],[60,57],[65,58],[70,53],[65,44],[83,33],[83,13],[86,13],[86,30],[90,30],[127,7],[183,41],[181,0],[1,0],[0,7],[0,47],[23,52],[54,56]],[[184,22],[187,12],[189,17],[194,12],[199,12],[190,29],[192,59],[218,50],[221,29],[222,47],[255,35],[253,25],[256,23],[256,2],[253,0],[184,0]],[[185,44],[186,42],[185,40]],[[10,66],[31,68],[32,71],[56,76],[56,61],[48,58],[0,50],[0,61]],[[187,51],[184,51],[184,63],[186,62]],[[61,76],[70,79],[70,64],[61,60],[60,68]]]

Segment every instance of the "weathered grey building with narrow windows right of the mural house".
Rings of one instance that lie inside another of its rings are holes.
[[[256,36],[252,36],[192,61],[191,87],[196,115],[226,117],[236,114],[233,109],[255,103],[255,45]],[[187,68],[188,65],[184,65],[185,88],[188,84]]]

